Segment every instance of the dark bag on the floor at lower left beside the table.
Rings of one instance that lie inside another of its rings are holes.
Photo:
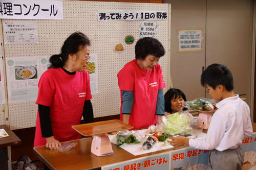
[[[34,162],[39,163],[36,166]],[[40,163],[40,160],[31,161],[31,159],[28,156],[22,155],[18,158],[16,162],[12,162],[12,170],[39,170]]]

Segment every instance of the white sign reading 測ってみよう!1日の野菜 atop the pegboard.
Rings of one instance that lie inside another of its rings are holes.
[[[98,21],[166,20],[168,11],[98,11]]]

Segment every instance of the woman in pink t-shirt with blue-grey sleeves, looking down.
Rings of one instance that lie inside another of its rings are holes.
[[[144,37],[135,45],[135,59],[118,72],[120,120],[133,129],[147,128],[162,120],[165,84],[158,61],[164,54],[161,42]]]

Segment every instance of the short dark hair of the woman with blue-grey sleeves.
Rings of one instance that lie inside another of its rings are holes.
[[[135,45],[135,58],[144,60],[147,55],[162,57],[165,50],[161,42],[156,38],[144,37],[137,41]]]

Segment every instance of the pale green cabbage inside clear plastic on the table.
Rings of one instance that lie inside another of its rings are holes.
[[[166,117],[162,117],[166,126],[166,133],[183,133],[185,134],[190,128],[189,117],[184,114],[173,113]]]

